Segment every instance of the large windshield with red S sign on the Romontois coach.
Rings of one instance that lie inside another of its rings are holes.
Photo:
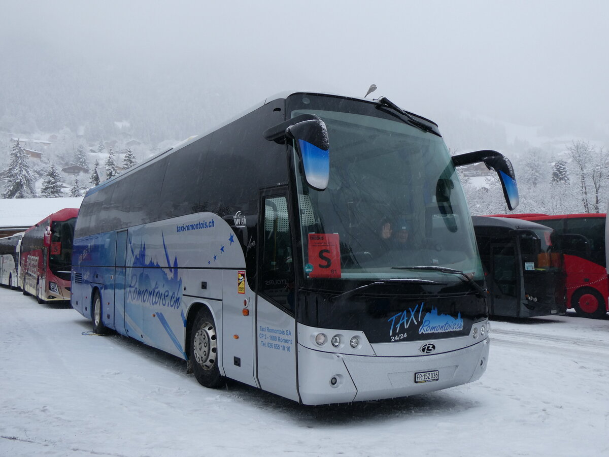
[[[463,283],[439,269],[404,268],[412,266],[449,267],[482,282],[462,186],[440,136],[372,103],[310,95],[300,102],[290,115],[319,116],[330,143],[328,188],[297,182],[309,286],[381,278]]]

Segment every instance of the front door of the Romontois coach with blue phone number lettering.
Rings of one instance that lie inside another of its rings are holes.
[[[290,208],[285,194],[267,193],[259,221],[256,299],[258,381],[265,391],[298,401],[295,273]]]

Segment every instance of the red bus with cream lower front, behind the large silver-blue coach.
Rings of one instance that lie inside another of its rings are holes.
[[[78,208],[64,208],[28,228],[21,239],[19,285],[38,303],[70,299],[72,241]]]

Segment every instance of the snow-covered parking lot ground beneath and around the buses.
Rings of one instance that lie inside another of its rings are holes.
[[[1,456],[607,456],[609,316],[494,321],[471,384],[302,406],[0,288]]]

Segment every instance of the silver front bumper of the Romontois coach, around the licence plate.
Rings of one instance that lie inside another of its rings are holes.
[[[360,356],[298,346],[298,388],[305,405],[379,400],[446,389],[475,381],[487,367],[490,339],[452,352]],[[415,374],[438,371],[438,380],[415,383]]]

